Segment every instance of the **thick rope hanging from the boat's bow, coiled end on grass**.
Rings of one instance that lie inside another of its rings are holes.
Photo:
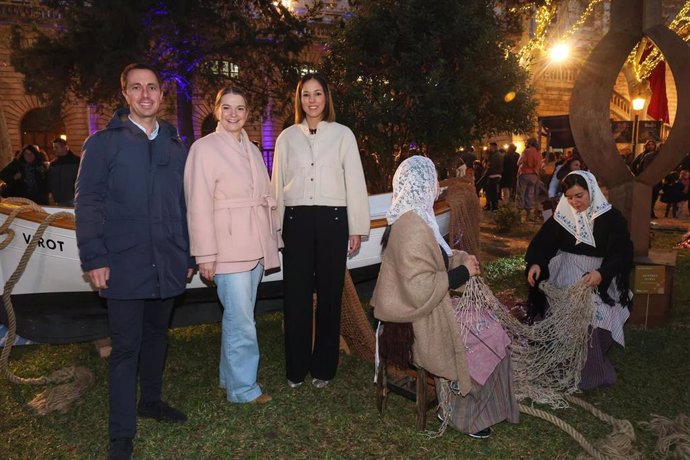
[[[17,215],[25,211],[44,212],[36,203],[25,198],[8,198],[3,200],[3,203],[18,204],[20,206],[13,210],[2,226],[0,226],[0,235],[7,235],[0,243],[0,250],[6,248],[14,238],[14,231],[10,228],[10,225]],[[2,293],[3,307],[5,308],[5,314],[7,316],[8,333],[5,347],[2,349],[2,353],[0,353],[0,376],[7,378],[8,381],[14,384],[56,385],[36,395],[36,397],[29,402],[29,407],[35,410],[39,415],[45,415],[52,411],[66,412],[72,403],[79,400],[94,382],[93,373],[89,369],[83,367],[66,367],[48,376],[32,378],[19,377],[9,368],[10,353],[17,333],[17,319],[14,314],[14,306],[12,305],[12,290],[19,282],[19,279],[31,259],[31,255],[34,253],[39,241],[43,238],[46,229],[53,221],[59,218],[74,220],[74,216],[68,212],[48,214],[45,220],[36,229],[34,236],[31,238],[24,254],[22,254],[19,260],[17,268],[5,283]]]

